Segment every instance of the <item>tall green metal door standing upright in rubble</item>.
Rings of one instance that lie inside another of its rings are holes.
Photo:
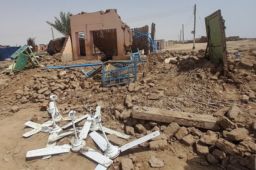
[[[225,20],[223,20],[220,10],[212,13],[208,17],[205,17],[206,33],[209,38],[210,59],[215,64],[220,64],[221,61],[223,61],[224,67],[228,69],[224,22]]]

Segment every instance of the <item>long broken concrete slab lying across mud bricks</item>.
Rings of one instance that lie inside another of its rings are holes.
[[[200,127],[212,130],[218,129],[217,118],[210,115],[148,107],[147,109],[142,110],[142,107],[139,107],[139,109],[132,111],[132,117],[135,119],[144,119],[157,122],[176,122],[179,125]]]

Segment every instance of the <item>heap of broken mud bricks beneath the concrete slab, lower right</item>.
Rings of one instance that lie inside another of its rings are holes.
[[[116,107],[116,109],[119,108]],[[226,169],[254,169],[256,146],[252,137],[256,130],[256,123],[252,123],[249,132],[243,124],[234,123],[239,114],[238,107],[232,105],[227,113],[223,110],[221,112],[223,116],[218,119],[219,130],[217,132],[207,129],[203,129],[202,132],[198,128],[179,126],[175,122],[168,125],[161,122],[134,119],[131,117],[131,112],[127,111],[120,113],[115,110],[114,114],[119,116],[120,120],[124,120],[126,134],[139,137],[140,134],[144,135],[155,130],[161,130],[160,136],[151,139],[150,142],[140,144],[140,147],[146,147],[150,150],[165,150],[169,144],[172,146],[179,141],[186,146],[195,147],[197,155],[205,157],[211,165]],[[204,162],[203,164],[207,165],[208,163]]]

